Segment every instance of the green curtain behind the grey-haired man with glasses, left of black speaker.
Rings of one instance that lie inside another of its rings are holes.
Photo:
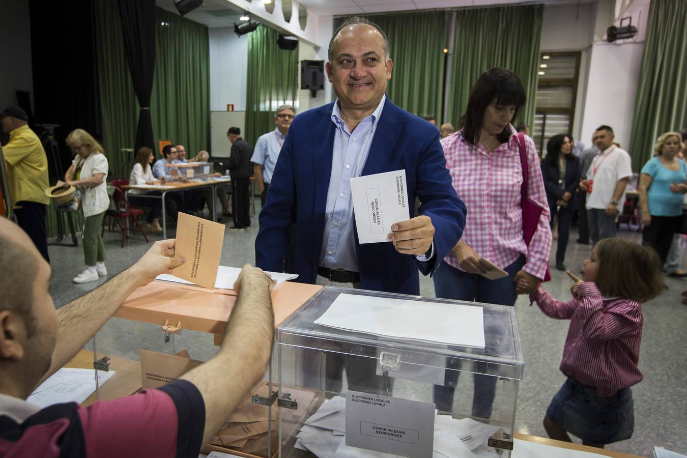
[[[283,104],[295,105],[298,87],[298,50],[277,45],[278,32],[259,25],[248,34],[246,131],[255,145],[260,135],[274,130],[274,113]]]

